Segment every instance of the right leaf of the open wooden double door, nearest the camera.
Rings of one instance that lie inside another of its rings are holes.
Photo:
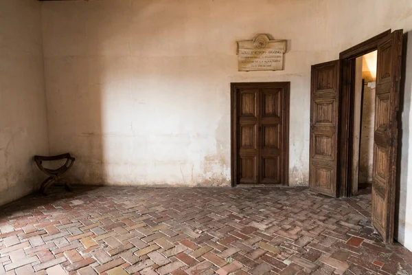
[[[380,41],[376,69],[371,216],[372,224],[387,243],[393,242],[395,216],[402,35],[402,30],[396,30]]]

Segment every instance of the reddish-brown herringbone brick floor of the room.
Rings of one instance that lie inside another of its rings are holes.
[[[411,274],[369,212],[307,188],[53,188],[0,208],[0,274]]]

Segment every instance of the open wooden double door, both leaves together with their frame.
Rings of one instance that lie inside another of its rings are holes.
[[[354,145],[356,58],[377,51],[371,223],[387,243],[393,242],[395,216],[402,36],[403,30],[387,30],[341,52],[339,60],[312,65],[311,71],[309,187],[331,197],[350,197],[359,183],[357,179],[355,189],[354,148],[362,149],[360,132]],[[360,91],[365,93],[364,88]],[[358,113],[361,131],[363,111]]]

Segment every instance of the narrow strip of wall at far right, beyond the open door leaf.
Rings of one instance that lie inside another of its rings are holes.
[[[402,78],[400,83],[400,105],[398,112],[398,159],[396,166],[396,206],[395,206],[395,239],[405,240],[406,234],[406,219],[407,219],[407,195],[408,190],[412,188],[409,184],[409,124],[411,117],[411,94],[412,94],[412,78],[408,72],[412,70],[412,32],[407,32],[403,37],[402,47]],[[408,186],[409,185],[409,186]],[[409,201],[409,203],[411,203]],[[412,230],[412,228],[411,228]]]

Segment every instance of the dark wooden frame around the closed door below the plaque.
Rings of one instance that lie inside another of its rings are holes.
[[[237,89],[264,89],[264,88],[284,88],[284,163],[283,163],[283,173],[282,186],[289,185],[289,109],[290,109],[290,82],[255,82],[255,83],[231,83],[231,96],[230,96],[230,116],[231,116],[231,186],[236,187],[238,182],[238,171],[237,171],[237,146],[236,146],[236,131],[237,118],[236,118],[236,102],[238,93]]]

